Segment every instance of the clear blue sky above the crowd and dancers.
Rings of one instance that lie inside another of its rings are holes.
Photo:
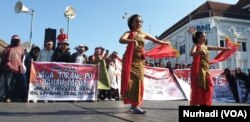
[[[29,41],[31,16],[16,14],[14,6],[18,0],[0,0],[0,39],[10,42],[13,34],[21,36],[22,42]],[[238,0],[213,0],[235,4]],[[94,48],[102,46],[110,52],[116,50],[122,56],[126,45],[119,43],[120,36],[128,30],[128,15],[143,17],[143,30],[152,36],[159,36],[184,16],[202,5],[206,0],[22,0],[23,4],[34,9],[32,43],[42,46],[45,29],[67,31],[64,17],[66,6],[76,11],[76,18],[70,20],[69,42],[71,52],[79,44],[89,47],[87,55]]]

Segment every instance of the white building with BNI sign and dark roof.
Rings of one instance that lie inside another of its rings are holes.
[[[240,1],[238,3],[240,3]],[[242,1],[246,2],[246,0]],[[248,3],[250,5],[250,0]],[[212,9],[201,11],[201,8],[207,4],[212,6]],[[250,12],[244,14],[236,12],[231,15],[232,18],[230,16],[216,16],[215,10],[213,10],[213,5],[217,4],[223,3],[210,1],[204,3],[190,15],[166,30],[159,37],[162,40],[170,40],[173,47],[179,51],[179,57],[168,59],[172,66],[175,64],[192,63],[193,57],[190,56],[189,52],[193,46],[193,41],[192,34],[188,30],[190,28],[195,28],[196,30],[201,30],[206,33],[208,45],[224,47],[226,44],[225,37],[229,37],[235,43],[238,42],[240,44],[240,49],[234,55],[226,61],[211,65],[211,68],[225,69],[240,67],[242,69],[250,69]],[[223,5],[226,7],[233,6],[228,4]],[[247,5],[248,4],[244,6]],[[242,9],[245,10],[246,8]],[[218,14],[218,11],[216,12]],[[218,15],[224,15],[225,13],[226,12],[224,11]],[[241,15],[243,19],[237,17],[237,15]],[[145,48],[149,49],[149,47],[152,47],[152,43],[148,43]],[[210,51],[210,60],[212,60],[218,53],[218,51]],[[161,60],[162,62],[166,62],[166,59]]]

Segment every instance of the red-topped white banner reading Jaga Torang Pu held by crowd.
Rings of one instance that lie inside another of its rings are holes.
[[[97,81],[97,65],[32,62],[28,101],[94,101]]]

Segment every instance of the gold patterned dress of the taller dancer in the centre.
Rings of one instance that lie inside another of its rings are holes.
[[[132,62],[130,69],[130,79],[128,79],[127,88],[123,95],[125,104],[141,105],[143,100],[143,78],[144,78],[144,34],[134,32],[134,40],[137,41],[138,45],[133,47]],[[128,48],[127,48],[128,50]],[[126,55],[126,53],[125,53]],[[125,56],[123,60],[125,59]],[[126,67],[123,67],[126,68]],[[122,86],[124,87],[124,86]]]

